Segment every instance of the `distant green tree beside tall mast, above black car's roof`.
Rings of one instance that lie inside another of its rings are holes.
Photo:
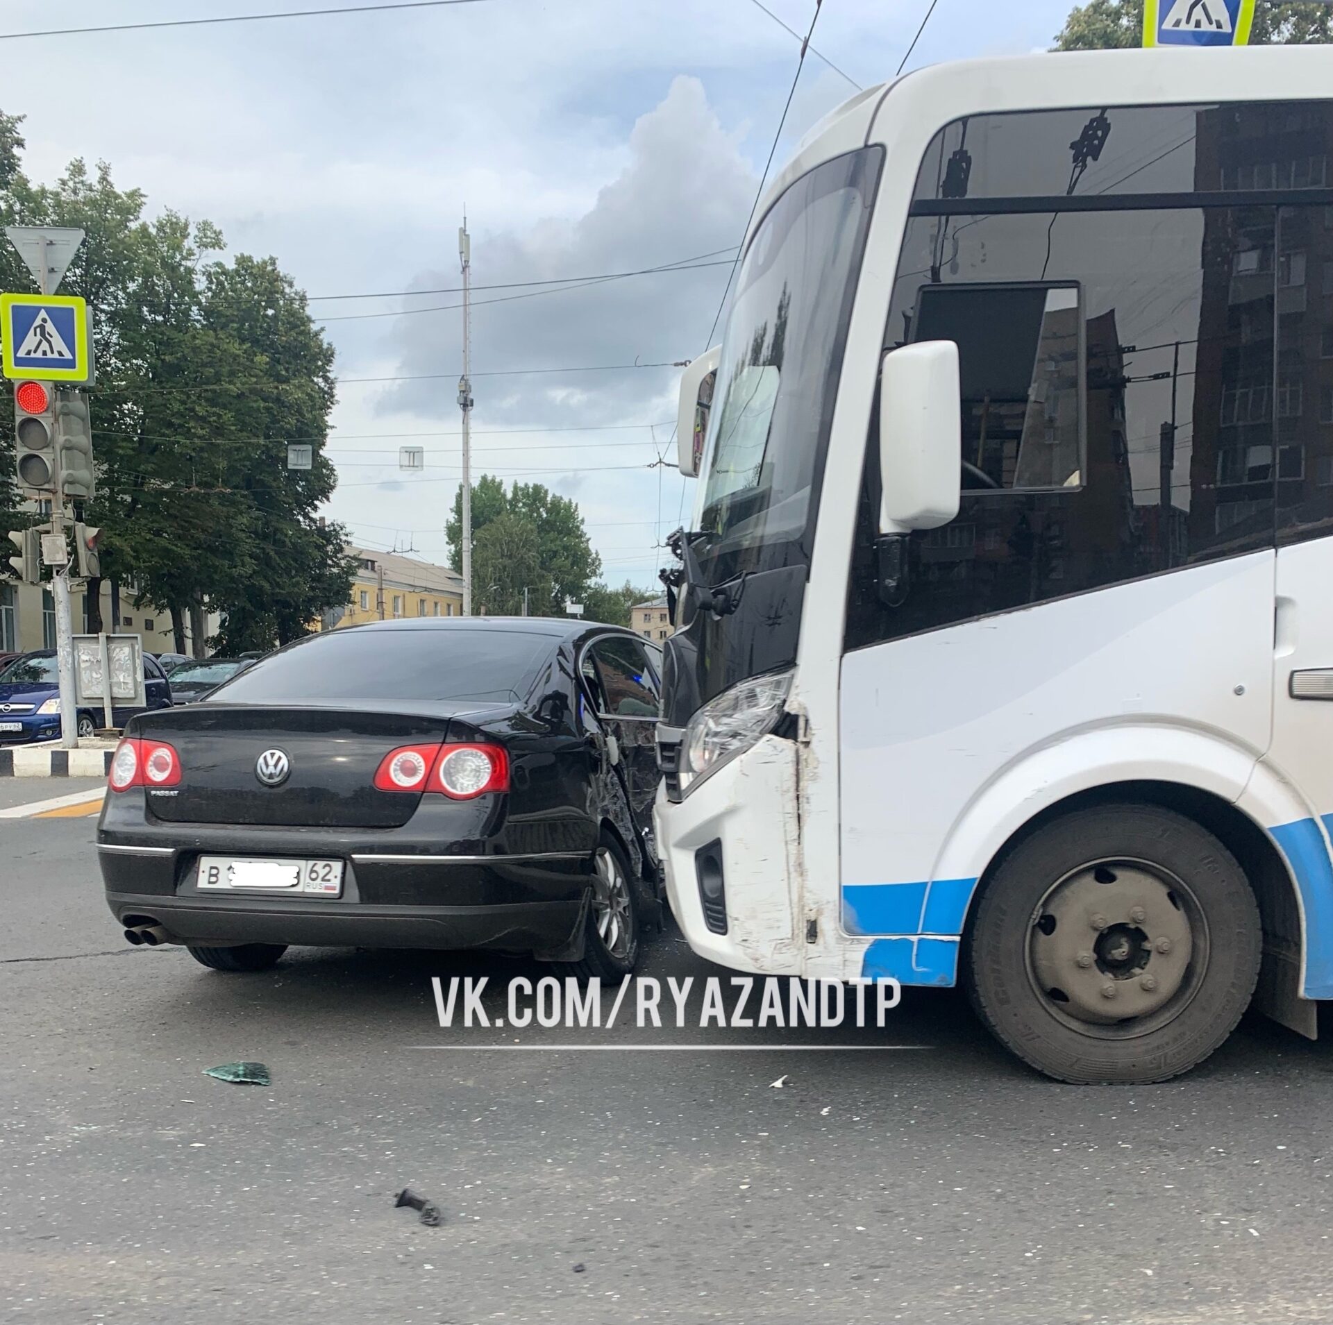
[[[601,573],[601,557],[588,541],[579,504],[553,493],[545,484],[515,483],[505,492],[504,483],[493,475],[481,475],[472,489],[472,583],[481,601],[483,579],[477,567],[481,535],[503,515],[516,516],[532,527],[541,556],[545,589],[529,593],[533,616],[564,616],[565,599],[583,601]],[[453,495],[453,511],[445,524],[449,540],[449,565],[463,569],[463,492]],[[491,583],[491,581],[485,581]]]

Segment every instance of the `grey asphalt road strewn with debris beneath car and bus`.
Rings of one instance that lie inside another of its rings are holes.
[[[0,820],[7,1321],[1333,1318],[1326,1045],[1254,1020],[1182,1081],[1058,1086],[932,993],[838,1033],[928,1048],[477,1052],[569,1033],[441,1030],[429,977],[539,968],[127,948],[93,824]],[[597,1042],[741,1036],[820,1038]],[[201,1076],[233,1060],[272,1086]]]

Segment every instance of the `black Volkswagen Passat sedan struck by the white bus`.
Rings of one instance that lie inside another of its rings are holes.
[[[653,645],[540,617],[376,623],[135,717],[97,825],[131,942],[500,948],[619,977],[660,905]]]

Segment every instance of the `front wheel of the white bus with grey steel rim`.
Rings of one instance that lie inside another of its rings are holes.
[[[1004,857],[965,974],[981,1020],[1038,1072],[1165,1081],[1232,1033],[1258,964],[1258,906],[1230,852],[1172,810],[1100,805]]]

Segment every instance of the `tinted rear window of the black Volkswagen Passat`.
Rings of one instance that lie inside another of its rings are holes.
[[[208,696],[219,704],[521,697],[549,635],[520,631],[329,631],[269,655]]]

